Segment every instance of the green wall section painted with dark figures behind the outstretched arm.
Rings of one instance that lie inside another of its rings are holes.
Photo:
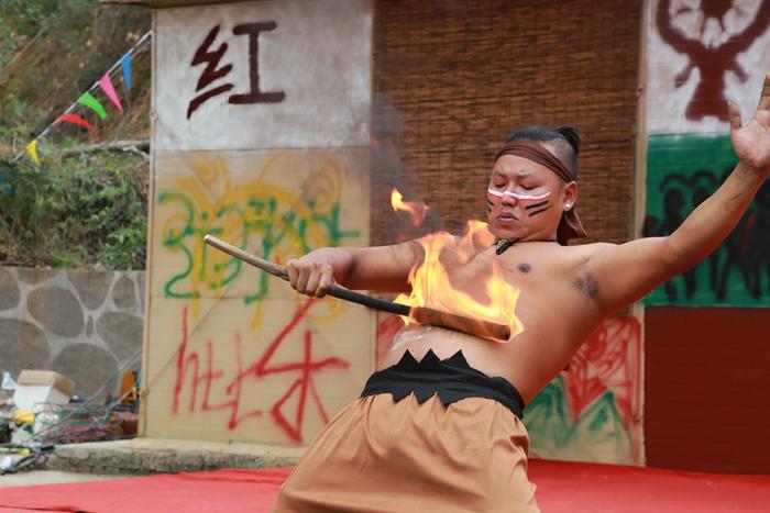
[[[651,135],[645,236],[669,235],[737,163],[729,135]],[[770,306],[770,183],[706,260],[645,298],[645,304]]]

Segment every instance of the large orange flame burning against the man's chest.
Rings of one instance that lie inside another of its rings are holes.
[[[409,271],[411,293],[399,294],[397,302],[506,324],[510,326],[512,338],[524,331],[515,314],[519,289],[506,281],[497,258],[492,258],[486,277],[480,277],[466,267],[463,272],[464,265],[479,254],[480,248],[490,247],[495,242],[486,223],[469,221],[468,230],[460,238],[440,232],[417,242],[425,250],[425,259]],[[451,261],[449,268],[444,261]],[[481,287],[477,286],[480,282]],[[409,321],[404,319],[404,322]]]

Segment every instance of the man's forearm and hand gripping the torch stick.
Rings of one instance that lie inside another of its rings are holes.
[[[286,264],[292,287],[321,298],[333,283],[349,289],[409,292],[409,271],[422,258],[415,242],[376,247],[322,247]]]

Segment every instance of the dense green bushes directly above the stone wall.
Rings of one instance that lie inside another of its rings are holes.
[[[108,152],[47,160],[0,163],[0,263],[144,268],[144,160]]]

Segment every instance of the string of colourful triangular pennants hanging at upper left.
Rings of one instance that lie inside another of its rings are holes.
[[[123,86],[125,87],[125,92],[131,94],[131,59],[134,57],[144,45],[150,42],[152,36],[152,31],[144,34],[140,40],[131,47],[128,52],[123,54],[111,67],[108,69],[102,77],[94,82],[91,87],[86,90],[80,97],[64,111],[62,115],[56,118],[53,123],[51,123],[41,134],[35,137],[30,144],[26,145],[24,150],[22,150],[18,156],[19,159],[24,153],[26,153],[35,164],[40,165],[40,158],[37,156],[37,142],[41,141],[54,126],[61,123],[73,123],[78,126],[86,129],[89,132],[95,130],[95,126],[86,120],[80,114],[77,114],[75,110],[82,105],[88,108],[90,111],[95,112],[100,120],[107,119],[107,109],[101,101],[97,98],[98,91],[107,97],[108,100],[114,105],[118,111],[123,112],[123,104],[120,101],[120,96],[116,91],[114,83],[112,82],[112,74],[118,69],[121,70],[123,77]]]

